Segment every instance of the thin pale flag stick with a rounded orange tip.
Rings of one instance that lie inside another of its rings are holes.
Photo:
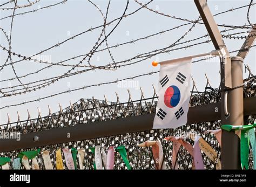
[[[177,61],[184,61],[184,60],[187,60],[187,59],[192,59],[192,58],[197,58],[197,57],[204,57],[204,56],[208,56],[208,55],[221,56],[220,52],[221,52],[220,50],[213,50],[209,53],[196,54],[196,55],[193,55],[193,56],[187,56],[187,57],[176,58],[176,59],[165,60],[165,61],[159,61],[159,62],[153,61],[152,66],[157,66],[158,64],[160,64],[160,65],[169,64],[169,63],[174,63],[174,62],[177,62]]]

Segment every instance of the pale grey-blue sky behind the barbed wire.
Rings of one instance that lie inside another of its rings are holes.
[[[6,2],[7,0],[1,0],[1,4]],[[30,11],[38,8],[42,8],[43,6],[55,4],[60,1],[41,1],[31,6],[30,8],[17,9],[16,13],[21,13],[25,11]],[[99,6],[100,9],[105,13],[106,6],[108,1],[98,1],[93,0],[96,5]],[[139,1],[143,4],[146,1]],[[26,1],[18,1],[20,4],[26,4]],[[208,5],[213,14],[237,8],[242,5],[246,5],[250,3],[250,1],[208,1]],[[109,15],[107,16],[107,22],[114,18],[118,18],[122,15],[125,9],[126,1],[111,1]],[[9,7],[13,7],[14,4],[9,3]],[[130,1],[127,13],[130,13],[139,8],[139,4],[134,1]],[[2,8],[7,7],[7,5]],[[171,16],[187,18],[191,20],[195,20],[198,18],[199,13],[197,11],[196,5],[193,1],[154,1],[149,4],[149,8],[153,10],[157,10],[159,12],[164,12]],[[247,23],[247,9],[239,9],[232,12],[225,13],[223,15],[215,16],[214,19],[219,24],[226,25],[248,25]],[[5,16],[11,15],[13,10],[0,10],[0,17],[3,18]],[[250,20],[252,23],[255,23],[255,7],[251,8],[250,11]],[[126,13],[126,14],[127,14]],[[106,33],[109,33],[113,26],[117,22],[114,22],[113,25],[106,27]],[[151,12],[147,9],[142,9],[134,15],[126,17],[122,20],[120,25],[118,25],[117,29],[113,31],[111,36],[107,39],[109,46],[124,43],[126,41],[135,40],[140,37],[147,36],[149,34],[157,33],[162,30],[171,29],[172,27],[176,27],[181,24],[185,24],[187,22],[157,15],[154,12]],[[10,31],[11,18],[6,18],[1,20],[0,26],[8,33]],[[14,17],[13,27],[12,27],[12,51],[22,54],[24,56],[31,56],[39,51],[47,49],[48,47],[57,44],[65,39],[72,37],[73,35],[83,32],[91,27],[95,27],[103,24],[103,19],[100,16],[99,11],[89,2],[87,1],[68,1],[65,4],[59,4],[57,6],[53,6],[49,9],[38,10],[36,12],[27,13],[25,15],[18,15]],[[114,49],[111,49],[114,60],[122,61],[125,59],[129,59],[137,54],[149,52],[152,50],[160,49],[162,47],[166,47],[176,41],[179,37],[181,37],[191,25],[180,27],[179,29],[175,29],[170,32],[166,32],[164,34],[159,34],[157,36],[137,41],[134,44],[123,45]],[[219,30],[224,30],[224,27],[219,27]],[[228,29],[228,27],[226,27]],[[95,44],[101,29],[96,29],[93,32],[88,32],[82,34],[75,39],[72,39],[59,47],[55,47],[52,50],[46,51],[43,53],[46,57],[49,58],[53,63],[57,63],[60,60],[68,59],[73,56],[78,56],[79,54],[86,54]],[[234,30],[227,32],[225,34],[231,34],[235,32],[241,32],[246,30]],[[186,40],[194,39],[200,36],[203,36],[207,33],[204,25],[197,24],[194,29],[180,42],[184,42]],[[238,36],[245,36],[246,33],[240,34]],[[8,47],[8,42],[1,31],[1,45],[4,47]],[[197,41],[193,41],[188,44],[181,44],[177,47],[191,45],[194,43],[198,43],[207,38],[203,38]],[[238,50],[240,49],[244,39],[224,39],[228,50]],[[100,46],[99,49],[105,48],[105,44]],[[117,79],[122,79],[126,77],[132,77],[133,75],[148,73],[151,71],[159,70],[158,67],[152,67],[151,62],[153,60],[158,59],[166,60],[172,58],[179,58],[188,56],[191,54],[199,54],[210,52],[214,50],[212,43],[201,44],[194,47],[189,47],[186,50],[176,50],[171,51],[170,53],[158,54],[157,56],[152,57],[151,59],[144,60],[136,65],[126,66],[123,68],[119,68],[117,71],[104,71],[104,70],[96,70],[91,72],[85,72],[83,74],[79,74],[76,76],[72,76],[70,78],[64,78],[57,81],[55,84],[48,86],[44,89],[40,89],[36,92],[31,92],[28,94],[22,94],[18,96],[11,96],[9,98],[1,98],[0,100],[0,108],[3,106],[12,105],[15,103],[21,103],[24,101],[29,101],[37,98],[42,98],[47,95],[51,95],[54,93],[58,93],[61,91],[65,91],[68,89],[78,88],[81,86],[87,86],[91,84],[98,84],[100,82],[112,81]],[[233,53],[235,55],[237,53]],[[3,65],[7,54],[5,51],[1,50],[1,63]],[[18,57],[12,57],[14,61],[18,60]],[[70,60],[69,64],[77,64],[82,57],[77,58],[76,60]],[[197,60],[197,59],[194,59]],[[253,48],[245,59],[245,64],[250,65],[253,73],[256,73],[255,68],[255,48]],[[93,65],[102,65],[111,63],[111,58],[107,51],[96,53],[91,63]],[[67,63],[65,63],[67,64]],[[84,65],[87,64],[85,61]],[[42,67],[45,67],[45,64],[39,64],[37,62],[31,61],[22,61],[14,65],[15,70],[19,76],[28,74],[30,72],[35,72]],[[211,61],[200,61],[198,63],[192,64],[192,75],[196,80],[197,87],[199,91],[203,91],[206,85],[206,79],[204,73],[207,73],[208,78],[210,79],[210,83],[212,87],[219,86],[219,62],[218,60]],[[41,80],[45,78],[55,77],[57,75],[61,75],[68,71],[70,67],[63,66],[52,66],[44,71],[39,72],[38,74],[31,75],[26,78],[22,78],[21,81],[23,83],[28,83],[36,80]],[[84,70],[83,67],[78,67],[78,70]],[[246,73],[244,77],[247,77]],[[9,79],[15,77],[14,72],[11,69],[11,66],[5,67],[0,72],[0,79]],[[134,79],[137,81],[137,85],[143,88],[144,94],[146,97],[151,97],[153,95],[152,84],[158,87],[158,74],[154,74],[152,76],[140,77]],[[0,87],[8,87],[18,85],[19,82],[17,80],[14,81],[5,81],[1,82]],[[137,86],[136,85],[136,86]],[[129,88],[132,93],[133,100],[140,98],[140,91],[137,87]],[[8,91],[7,89],[5,91]],[[117,84],[111,85],[103,85],[98,87],[91,87],[84,89],[84,91],[72,92],[70,94],[62,94],[55,96],[53,98],[41,100],[40,102],[28,103],[26,105],[21,105],[17,107],[4,108],[0,110],[0,123],[7,122],[7,115],[9,113],[11,117],[11,121],[14,122],[17,120],[17,111],[19,111],[21,115],[21,119],[25,120],[28,115],[26,109],[29,109],[31,113],[31,117],[37,117],[37,107],[41,108],[42,115],[48,114],[48,105],[50,105],[52,112],[57,112],[59,107],[58,103],[61,103],[63,108],[69,106],[69,101],[76,102],[80,98],[92,98],[95,96],[96,99],[104,99],[103,94],[107,96],[109,101],[116,101],[116,94],[119,94],[119,98],[121,101],[127,101],[128,93],[126,87],[118,87]]]

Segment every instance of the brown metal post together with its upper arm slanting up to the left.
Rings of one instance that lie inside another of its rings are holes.
[[[206,0],[194,0],[205,27],[212,39],[212,43],[217,50],[221,50],[223,56],[226,58],[221,59],[220,72],[221,72],[221,89],[234,88],[242,84],[242,61],[240,57],[232,57],[228,53],[227,47],[219,32],[210,9],[208,8]],[[253,41],[250,41],[250,44]],[[245,44],[245,46],[247,43]],[[226,53],[226,54],[225,54]],[[241,53],[245,56],[246,52]],[[243,106],[243,88],[232,89],[228,91],[227,95],[227,108],[230,115],[227,117],[224,112],[225,92],[221,92],[221,124],[242,125],[244,124],[244,106]],[[240,140],[234,133],[223,131],[221,148],[221,163],[223,169],[240,169]]]

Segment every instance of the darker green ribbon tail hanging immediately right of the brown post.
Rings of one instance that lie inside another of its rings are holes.
[[[242,169],[248,169],[249,162],[249,137],[248,130],[241,130],[241,167]]]

